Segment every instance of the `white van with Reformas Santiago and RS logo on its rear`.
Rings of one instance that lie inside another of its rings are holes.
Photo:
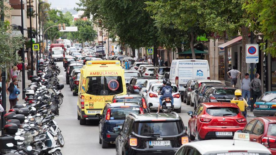
[[[184,90],[188,80],[210,79],[210,69],[207,60],[177,59],[173,60],[169,80],[178,86],[179,91]],[[181,94],[181,92],[180,92]]]

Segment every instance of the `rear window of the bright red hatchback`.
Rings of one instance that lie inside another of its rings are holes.
[[[211,116],[237,116],[240,111],[234,107],[211,107],[206,112]]]

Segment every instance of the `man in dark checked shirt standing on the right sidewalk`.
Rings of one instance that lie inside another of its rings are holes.
[[[251,103],[251,106],[253,106],[257,98],[262,95],[262,82],[259,77],[260,75],[255,73],[255,78],[249,83],[250,88],[253,90],[253,102]]]

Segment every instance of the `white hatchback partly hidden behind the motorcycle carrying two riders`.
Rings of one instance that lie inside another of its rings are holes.
[[[153,83],[150,85],[149,89],[146,90],[146,103],[152,103],[153,106],[150,107],[150,109],[157,109],[158,105],[160,104],[159,98],[162,95],[158,95],[158,90],[160,87],[163,85],[163,83]],[[178,88],[175,84],[172,84],[173,88],[173,105],[174,105],[174,110],[176,110],[177,113],[181,112],[181,98],[180,98],[180,93],[178,91]]]

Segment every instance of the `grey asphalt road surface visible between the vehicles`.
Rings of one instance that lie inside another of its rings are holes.
[[[81,154],[107,154],[115,155],[115,145],[109,145],[107,149],[103,149],[99,144],[99,120],[88,120],[86,125],[80,125],[77,120],[77,96],[73,96],[69,85],[66,85],[66,77],[62,62],[57,62],[61,69],[59,75],[60,83],[65,86],[62,90],[64,95],[63,103],[60,107],[60,116],[55,120],[62,131],[65,140],[65,146],[62,147],[61,152],[64,155],[81,155]],[[185,126],[188,126],[188,111],[193,111],[193,107],[182,103],[181,113],[178,113],[182,118]]]

